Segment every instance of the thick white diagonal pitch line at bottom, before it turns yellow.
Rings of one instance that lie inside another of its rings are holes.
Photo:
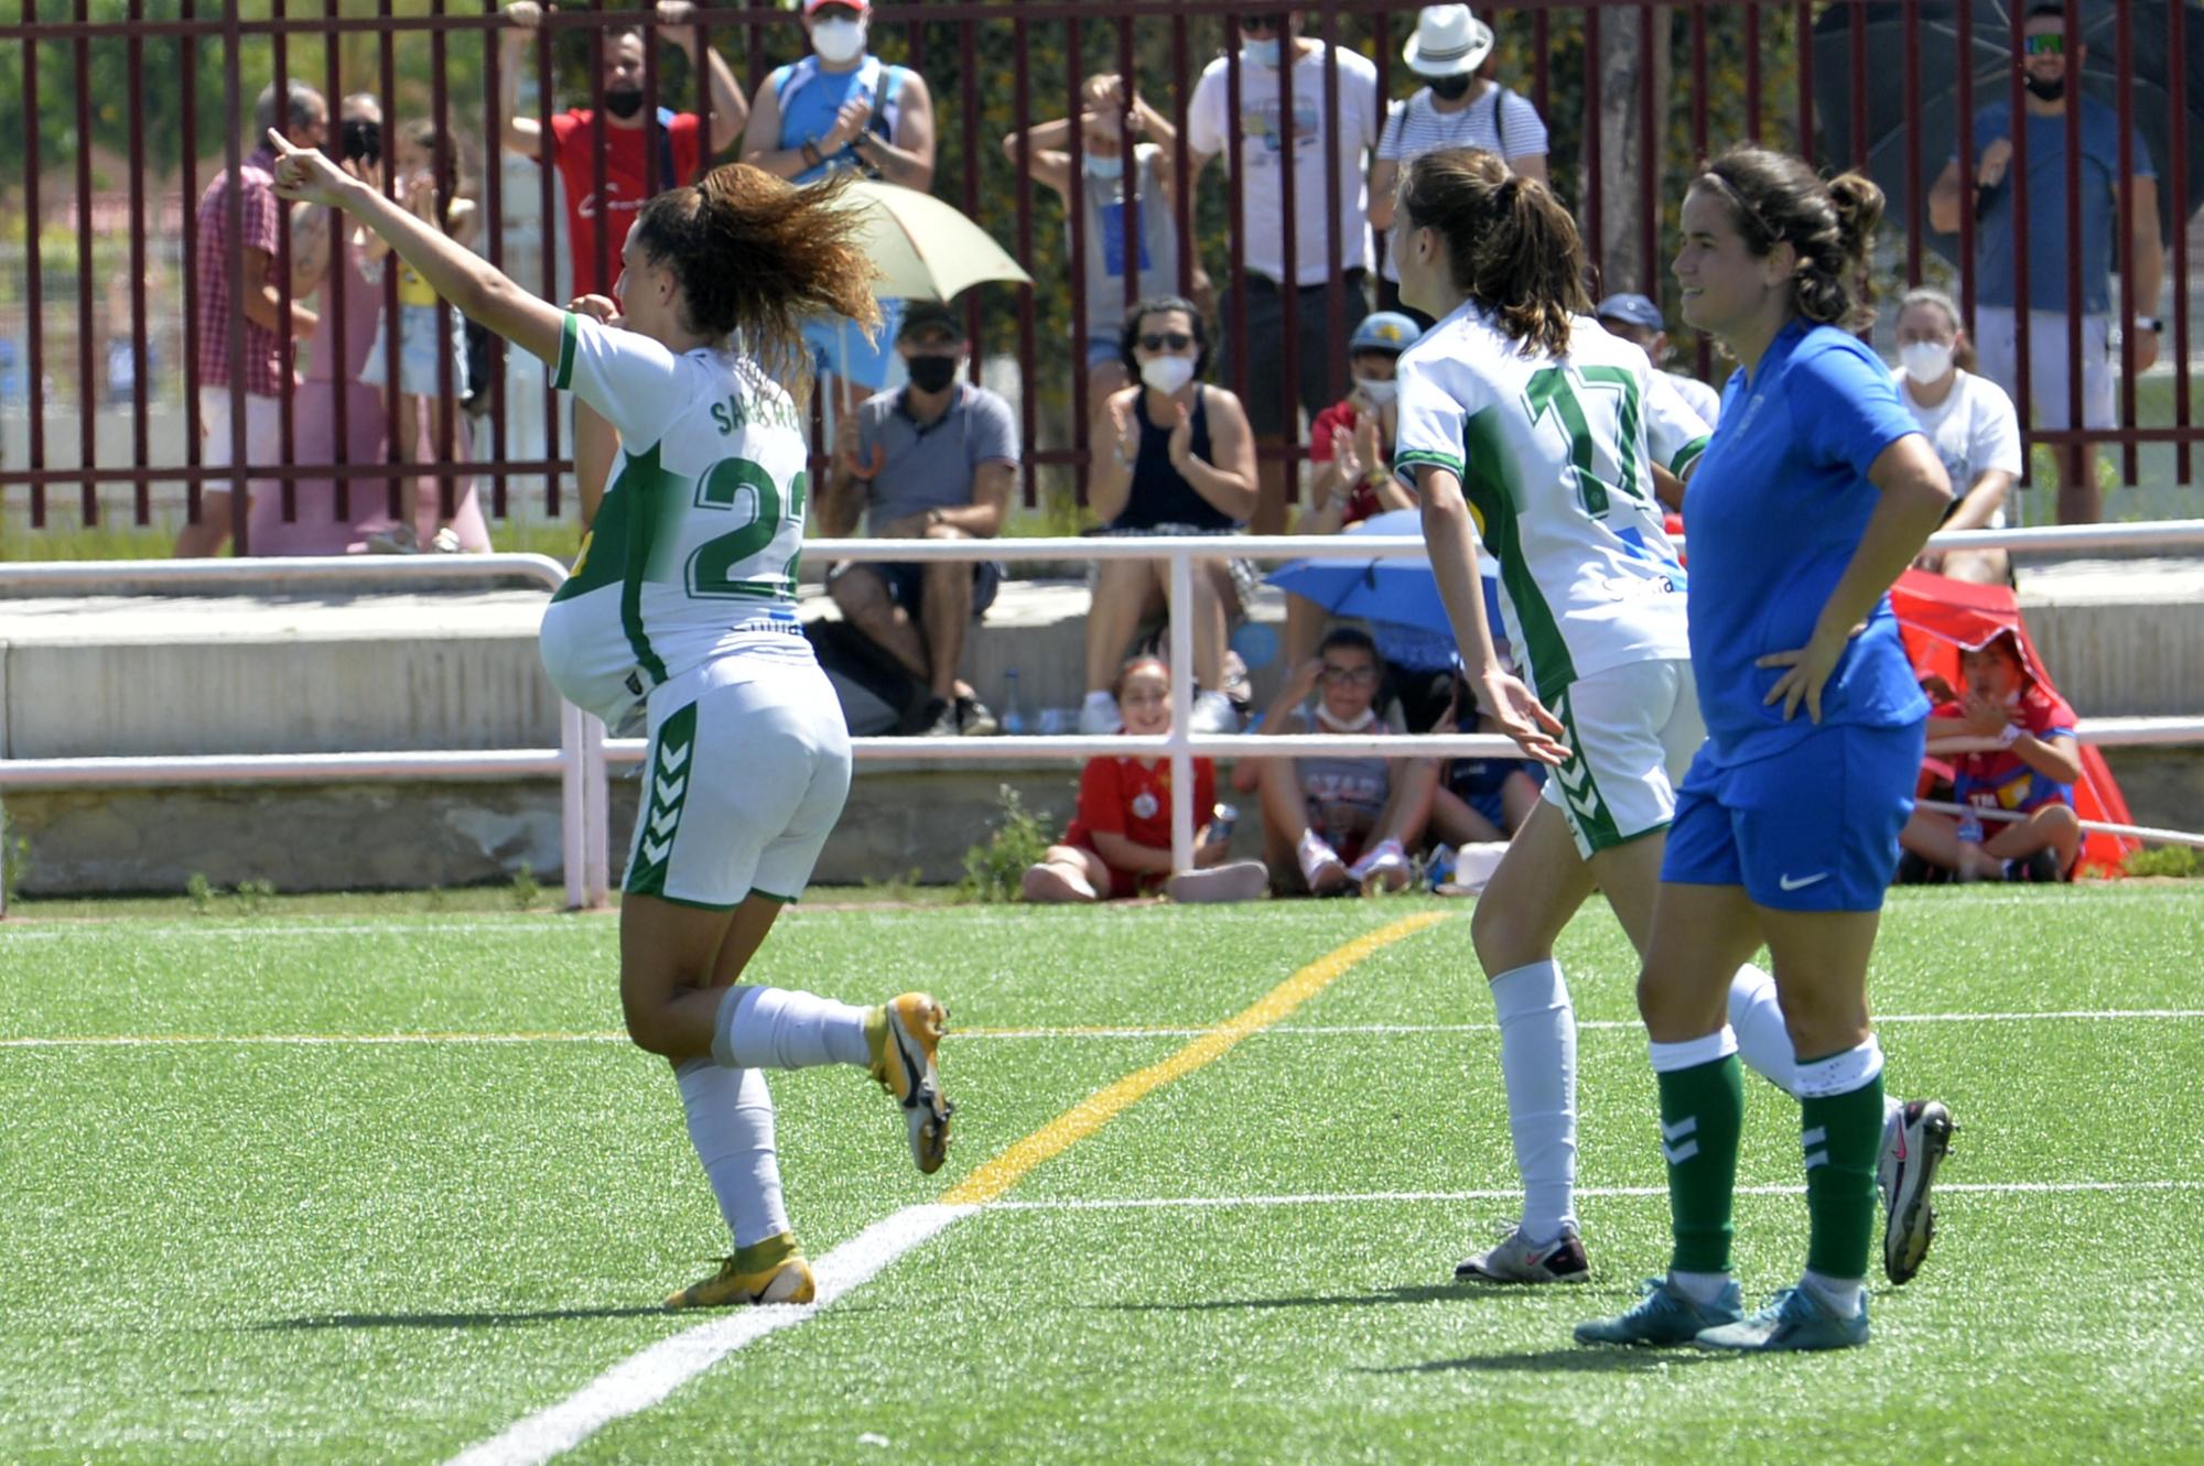
[[[767,1334],[793,1327],[833,1305],[897,1257],[934,1237],[976,1206],[906,1206],[875,1222],[811,1266],[818,1297],[796,1308],[745,1308],[699,1323],[630,1354],[558,1404],[516,1420],[478,1446],[452,1457],[452,1466],[520,1466],[549,1462],[573,1451],[597,1429],[646,1411],[692,1378]]]

